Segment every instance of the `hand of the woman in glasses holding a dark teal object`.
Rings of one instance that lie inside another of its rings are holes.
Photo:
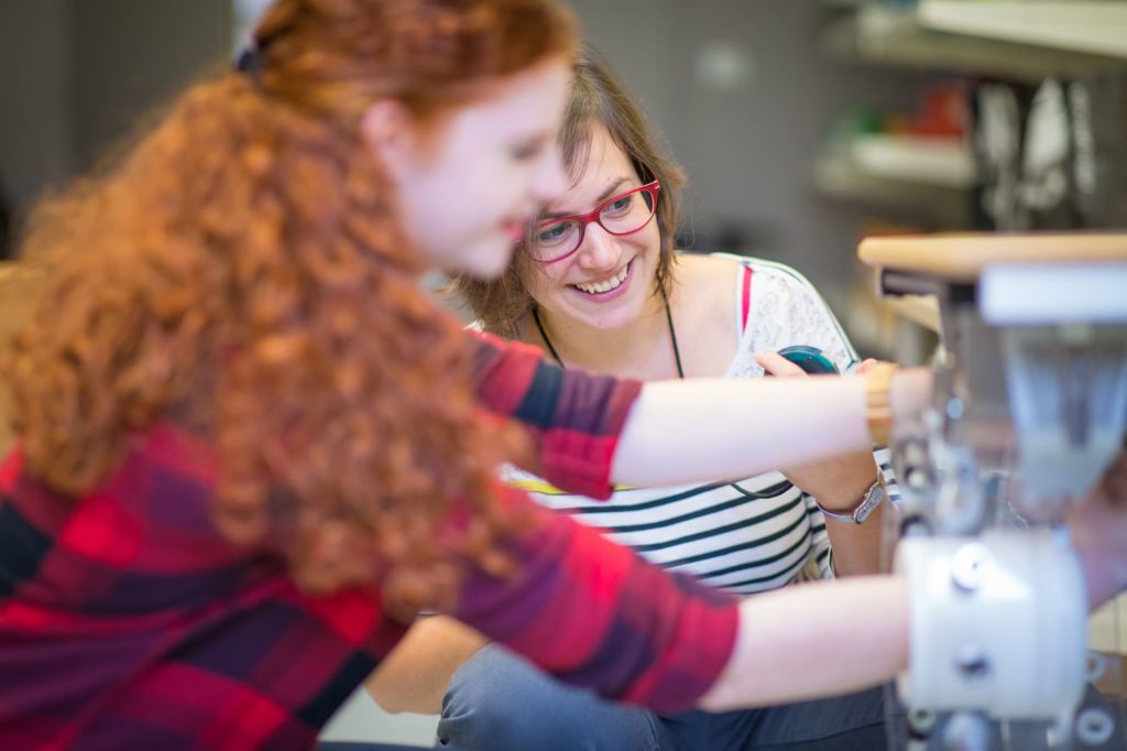
[[[809,378],[801,368],[774,352],[756,354],[755,362],[777,378]],[[863,373],[876,363],[876,360],[866,360],[858,365],[858,372]],[[828,511],[852,513],[861,502],[861,496],[877,479],[878,469],[871,451],[858,451],[781,471]]]

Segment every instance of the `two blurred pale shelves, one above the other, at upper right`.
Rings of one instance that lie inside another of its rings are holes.
[[[875,64],[1040,82],[1048,77],[1127,72],[1125,0],[920,0],[917,6],[833,2],[846,8],[824,29],[832,55]],[[958,143],[858,136],[832,144],[815,166],[816,188],[958,227],[975,182]]]

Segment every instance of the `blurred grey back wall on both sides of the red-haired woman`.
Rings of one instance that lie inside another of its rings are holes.
[[[0,2],[0,170],[26,206],[87,169],[132,123],[227,64],[232,0]],[[696,247],[749,249],[798,266],[831,297],[853,273],[858,212],[816,195],[829,124],[861,103],[911,109],[919,79],[843,65],[815,50],[818,0],[573,0],[585,32],[667,135],[690,179]],[[701,83],[698,55],[752,61],[731,89]]]

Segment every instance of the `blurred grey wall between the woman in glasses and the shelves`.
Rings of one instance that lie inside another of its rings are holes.
[[[859,104],[911,111],[916,74],[845,65],[815,48],[817,0],[571,0],[584,32],[615,65],[690,177],[696,247],[719,224],[742,228],[756,255],[793,264],[831,297],[854,273],[858,211],[816,195],[814,160],[832,122]],[[699,53],[744,52],[749,79],[704,86]]]

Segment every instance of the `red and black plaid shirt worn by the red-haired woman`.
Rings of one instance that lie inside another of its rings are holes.
[[[607,495],[638,385],[486,341],[482,405],[527,424],[560,487]],[[169,426],[80,498],[0,467],[0,749],[305,749],[406,627],[375,587],[302,593],[273,551],[213,529],[211,449]],[[530,504],[515,491],[511,502]],[[530,504],[531,505],[531,504]],[[658,709],[726,664],[724,594],[533,509],[517,576],[470,572],[452,613],[564,680]]]

